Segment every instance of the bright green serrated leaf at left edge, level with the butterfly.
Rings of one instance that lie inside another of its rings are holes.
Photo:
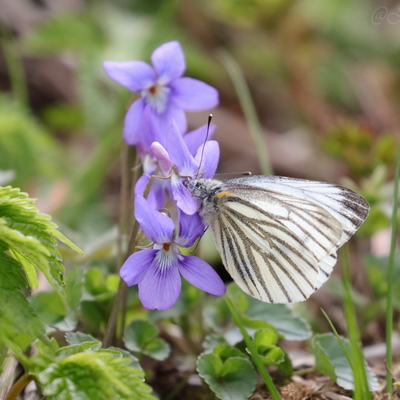
[[[18,188],[0,187],[0,244],[22,265],[31,284],[37,283],[36,268],[63,295],[64,266],[56,239],[81,250],[57,231],[51,217],[40,213],[34,202]]]

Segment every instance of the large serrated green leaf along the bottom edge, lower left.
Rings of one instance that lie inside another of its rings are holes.
[[[76,346],[82,344],[71,348]],[[49,400],[155,400],[151,388],[143,383],[143,372],[130,367],[131,360],[121,352],[83,350],[51,363],[38,374]]]

